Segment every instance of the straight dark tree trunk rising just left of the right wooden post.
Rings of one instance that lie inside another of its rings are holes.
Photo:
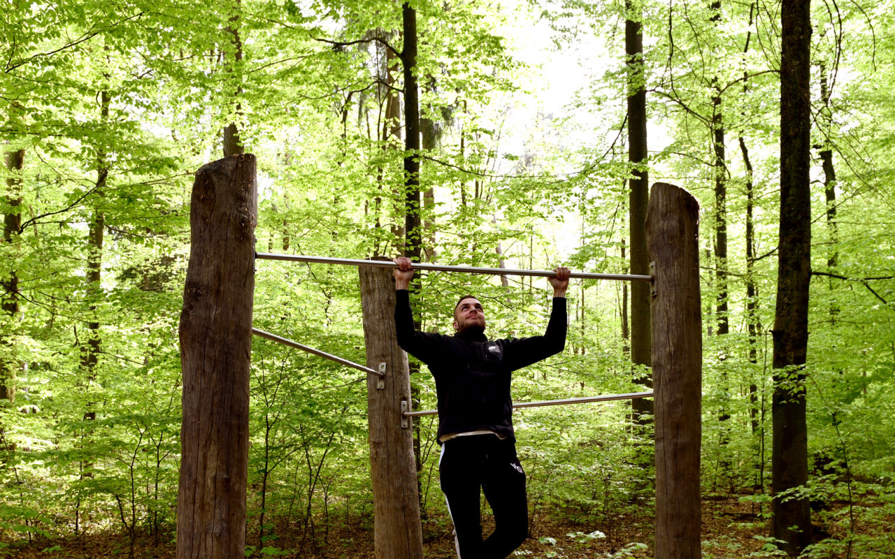
[[[631,274],[649,275],[650,265],[646,254],[646,205],[649,200],[649,177],[646,170],[646,81],[644,74],[644,31],[642,4],[626,2],[625,54],[627,63],[627,126],[628,161],[633,165],[628,180],[629,224],[631,236]],[[650,366],[650,286],[644,282],[631,285],[631,360],[638,366]],[[652,376],[639,372],[635,382],[652,387]],[[634,419],[652,415],[652,400],[638,398],[632,401]]]

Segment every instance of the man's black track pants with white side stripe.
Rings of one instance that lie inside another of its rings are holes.
[[[452,438],[441,447],[439,470],[459,559],[503,559],[522,544],[528,535],[528,502],[513,441],[496,435]],[[494,532],[484,541],[479,487],[494,512]]]

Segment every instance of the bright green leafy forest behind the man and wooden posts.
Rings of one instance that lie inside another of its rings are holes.
[[[814,557],[895,555],[893,13],[828,0],[810,16],[810,336],[788,388],[805,394],[809,477],[787,495],[811,503],[814,545],[797,551]],[[65,556],[98,535],[115,553],[170,552],[192,174],[243,150],[259,161],[258,247],[273,252],[626,273],[635,185],[694,193],[703,516],[720,526],[703,552],[782,553],[769,520],[781,32],[780,4],[762,0],[4,2],[0,555]],[[354,268],[257,268],[255,326],[363,360]],[[414,308],[447,332],[453,301],[476,292],[492,336],[533,335],[546,285],[424,274]],[[516,400],[648,385],[627,287],[581,281],[568,297],[566,351],[519,371]],[[415,405],[434,408],[428,371],[412,380]],[[253,342],[247,554],[369,547],[365,401],[355,371]],[[525,553],[648,554],[649,410],[515,420]],[[416,432],[423,533],[449,550],[434,427]]]

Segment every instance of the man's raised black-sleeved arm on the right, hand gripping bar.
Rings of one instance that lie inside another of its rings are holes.
[[[553,306],[550,310],[550,322],[544,335],[535,335],[521,340],[510,340],[505,345],[504,359],[510,370],[528,367],[532,363],[547,359],[566,347],[566,331],[568,315],[566,309],[566,291],[568,289],[569,269],[556,268],[556,276],[550,277],[553,286]]]

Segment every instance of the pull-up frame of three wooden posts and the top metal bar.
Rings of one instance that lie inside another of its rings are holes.
[[[177,553],[200,555],[209,538],[215,540],[221,556],[240,556],[245,549],[245,530],[235,528],[245,525],[248,489],[254,267],[256,258],[276,258],[348,264],[361,272],[366,351],[381,356],[386,365],[385,388],[367,391],[376,549],[383,557],[419,559],[422,530],[413,433],[395,428],[396,418],[408,424],[412,419],[401,415],[410,411],[410,402],[402,402],[402,396],[409,399],[410,378],[404,355],[388,327],[393,312],[389,301],[394,296],[388,267],[394,265],[375,260],[257,255],[257,199],[255,157],[251,154],[225,157],[203,166],[195,175],[192,247],[179,329],[183,422],[177,510],[183,513],[177,519]],[[651,313],[656,463],[653,555],[657,559],[698,559],[703,368],[699,204],[686,191],[661,182],[652,186],[649,202],[646,248],[655,262],[658,287],[652,293]],[[501,268],[414,267],[490,275],[552,275]],[[378,277],[368,277],[373,275]],[[650,279],[647,275],[573,276]],[[259,334],[257,330],[255,334]],[[368,385],[376,384],[373,377],[368,376],[368,381]],[[209,449],[220,460],[207,460]],[[203,499],[212,494],[216,506],[204,506]]]

